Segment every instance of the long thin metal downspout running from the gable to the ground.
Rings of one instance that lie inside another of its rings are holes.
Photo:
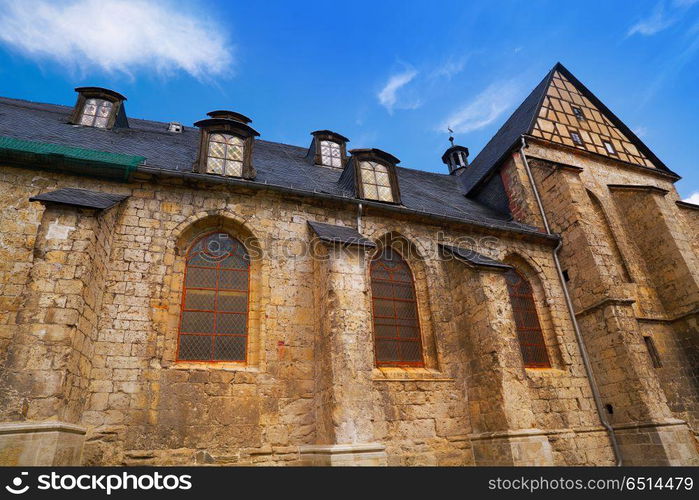
[[[544,205],[541,202],[541,197],[539,196],[539,190],[534,182],[534,176],[529,168],[529,162],[527,161],[527,155],[524,154],[524,150],[527,147],[527,141],[524,136],[522,136],[522,147],[519,150],[519,154],[524,162],[524,169],[527,171],[527,177],[529,178],[529,183],[534,191],[534,197],[536,198],[536,204],[539,206],[539,211],[541,212],[541,218],[544,221],[544,228],[546,229],[546,234],[552,234],[551,228],[549,226],[548,218],[546,217],[546,212],[544,211]],[[558,245],[553,250],[553,261],[556,265],[556,271],[558,272],[558,279],[561,281],[563,286],[563,295],[566,300],[566,306],[568,307],[568,312],[570,313],[570,319],[573,321],[573,330],[575,330],[575,337],[578,341],[578,346],[580,347],[580,354],[583,358],[583,364],[585,365],[585,371],[587,372],[587,378],[590,381],[590,388],[592,389],[592,398],[595,400],[595,406],[597,407],[597,414],[602,422],[602,426],[607,429],[609,433],[609,439],[612,442],[612,448],[614,449],[614,456],[616,457],[616,465],[623,465],[623,459],[621,457],[621,450],[619,449],[619,443],[616,439],[616,434],[614,434],[614,428],[607,421],[607,416],[604,413],[604,408],[602,407],[602,398],[599,393],[599,388],[597,387],[597,381],[595,380],[595,375],[592,372],[592,365],[590,364],[590,357],[587,354],[587,348],[585,347],[585,340],[580,333],[580,326],[578,325],[578,320],[575,317],[575,309],[573,308],[573,302],[570,299],[570,294],[568,293],[568,287],[566,286],[565,278],[563,277],[563,271],[561,270],[561,263],[558,260],[558,252],[563,246],[563,240],[558,241]]]

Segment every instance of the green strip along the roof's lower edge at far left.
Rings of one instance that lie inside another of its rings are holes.
[[[121,172],[118,177],[128,179],[138,165],[146,161],[145,156],[108,153],[94,149],[76,148],[46,142],[25,141],[14,137],[0,136],[0,156],[15,160],[36,161],[63,166],[104,167]],[[99,169],[96,169],[99,170]],[[99,174],[98,171],[94,173]],[[114,173],[109,175],[114,176]]]

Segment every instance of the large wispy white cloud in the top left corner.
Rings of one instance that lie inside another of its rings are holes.
[[[0,0],[0,42],[83,71],[207,78],[233,64],[225,33],[171,0]]]

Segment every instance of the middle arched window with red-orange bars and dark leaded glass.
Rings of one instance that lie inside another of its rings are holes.
[[[423,366],[413,274],[395,250],[371,262],[371,292],[376,364]]]

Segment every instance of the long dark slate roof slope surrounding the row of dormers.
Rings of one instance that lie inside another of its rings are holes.
[[[129,118],[128,129],[103,130],[68,124],[71,111],[72,108],[68,106],[0,98],[0,136],[145,156],[145,165],[139,166],[139,169],[189,174],[198,178],[213,177],[192,174],[199,147],[199,131],[196,128],[185,127],[182,133],[172,133],[167,131],[166,123]],[[230,182],[277,187],[303,195],[317,193],[355,200],[354,193],[338,183],[341,172],[314,165],[307,147],[256,140],[253,165],[257,172],[254,180],[236,179]],[[455,176],[402,167],[397,167],[396,173],[401,201],[407,211],[539,234],[535,228],[513,221],[507,214],[466,198]],[[227,178],[219,179],[229,182]],[[367,202],[367,205],[372,203]]]

